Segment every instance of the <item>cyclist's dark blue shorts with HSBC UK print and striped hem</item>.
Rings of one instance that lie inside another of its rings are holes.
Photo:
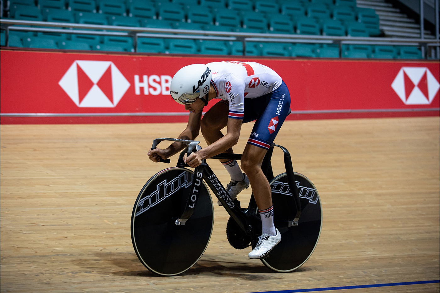
[[[289,114],[289,89],[283,81],[270,94],[245,99],[244,108],[243,123],[257,120],[247,143],[268,150]]]

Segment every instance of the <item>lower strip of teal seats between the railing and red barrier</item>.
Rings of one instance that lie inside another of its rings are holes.
[[[4,33],[1,45],[5,45]],[[96,51],[133,51],[132,38],[100,37],[95,35],[72,35],[71,40],[58,39],[52,35],[40,33],[39,37],[22,33],[22,37],[11,34],[9,43],[14,47],[48,48],[62,50]],[[322,57],[339,58],[339,47],[327,44],[292,43],[246,43],[246,55],[278,57]],[[138,38],[137,51],[168,54],[205,54],[205,55],[242,55],[242,42],[224,42],[213,40],[179,40],[161,38]],[[379,59],[420,59],[421,51],[408,46],[343,45],[343,58],[379,58]]]

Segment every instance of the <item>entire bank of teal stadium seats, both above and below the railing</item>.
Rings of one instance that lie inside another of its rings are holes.
[[[356,0],[10,0],[14,19],[204,31],[369,37],[380,35],[373,9]],[[5,44],[2,31],[2,45]],[[134,51],[130,37],[9,32],[9,46],[62,50]],[[241,42],[139,38],[137,51],[242,55]],[[246,55],[339,57],[339,47],[316,44],[246,45]],[[343,46],[345,58],[421,58],[416,47]]]

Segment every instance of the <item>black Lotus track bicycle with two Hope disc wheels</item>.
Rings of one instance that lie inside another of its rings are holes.
[[[133,207],[131,236],[140,262],[150,271],[164,276],[179,275],[190,269],[203,255],[213,231],[213,201],[208,187],[230,215],[226,225],[228,242],[235,249],[255,248],[261,234],[261,219],[251,194],[248,206],[232,200],[206,163],[189,169],[185,152],[200,150],[200,141],[154,139],[187,144],[176,167],[166,168],[148,180]],[[273,176],[271,156],[275,147],[284,154],[286,172]],[[240,160],[242,154],[219,154],[210,159]],[[208,160],[208,159],[207,159]],[[169,163],[170,160],[161,160]],[[281,242],[261,259],[273,271],[290,272],[301,267],[312,255],[322,228],[322,207],[318,191],[304,175],[293,172],[290,154],[275,143],[262,164],[272,190],[274,223]],[[293,190],[293,192],[292,192]]]

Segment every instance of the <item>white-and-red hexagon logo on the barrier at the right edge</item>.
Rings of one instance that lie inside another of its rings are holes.
[[[402,67],[391,87],[406,105],[428,105],[439,90],[439,82],[426,67]]]

